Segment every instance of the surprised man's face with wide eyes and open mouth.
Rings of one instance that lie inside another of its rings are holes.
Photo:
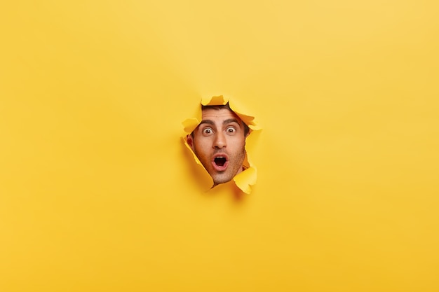
[[[214,186],[242,172],[245,158],[243,122],[229,109],[203,109],[203,118],[187,142],[212,176]]]

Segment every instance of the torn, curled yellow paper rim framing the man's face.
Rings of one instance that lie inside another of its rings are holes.
[[[236,113],[236,116],[241,118],[241,120],[243,120],[243,122],[246,125],[248,125],[248,127],[250,127],[251,129],[250,134],[252,134],[253,131],[261,130],[260,127],[257,125],[255,117],[250,116],[248,113],[245,113],[246,111],[243,109],[243,107],[237,104],[235,101],[232,101],[231,99],[224,97],[222,95],[215,97],[204,97],[203,99],[201,99],[202,106],[226,105],[227,103],[229,103],[230,109],[234,111],[234,113]],[[194,156],[194,160],[196,164],[198,166],[203,167],[202,163],[200,162],[194,151],[192,151],[191,146],[189,146],[189,144],[187,143],[187,135],[191,134],[191,132],[193,132],[196,129],[196,127],[198,127],[198,125],[201,123],[201,120],[202,120],[202,110],[201,110],[201,106],[198,106],[198,110],[196,111],[196,117],[188,118],[184,120],[182,125],[184,127],[184,132],[186,132],[186,134],[183,137],[184,144],[189,149],[189,151],[191,151],[192,155]],[[256,183],[257,169],[255,165],[252,164],[252,161],[250,160],[250,154],[248,153],[248,148],[251,147],[249,147],[248,145],[249,141],[246,142],[247,142],[245,146],[246,155],[245,155],[245,160],[243,162],[243,165],[244,167],[246,167],[246,169],[244,169],[241,173],[236,174],[236,176],[234,176],[233,181],[235,182],[236,186],[238,186],[238,188],[240,188],[244,193],[250,194],[251,192],[250,186],[253,186]],[[252,141],[250,141],[250,143],[252,143]],[[203,169],[205,173],[208,174],[207,170],[204,167]],[[210,182],[212,182],[212,179],[210,180]],[[212,184],[210,186],[212,186]]]

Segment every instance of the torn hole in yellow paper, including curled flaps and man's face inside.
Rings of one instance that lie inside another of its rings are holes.
[[[244,193],[250,193],[257,172],[246,142],[253,131],[260,130],[255,117],[235,101],[219,95],[203,98],[196,116],[182,124],[184,144],[196,164],[209,174],[210,186],[233,180]]]

